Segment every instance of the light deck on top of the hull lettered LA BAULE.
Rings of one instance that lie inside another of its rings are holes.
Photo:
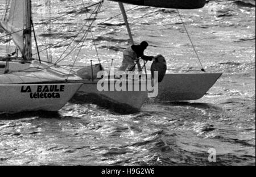
[[[8,69],[8,70],[7,70]],[[0,84],[67,83],[81,78],[69,70],[38,61],[0,60]]]

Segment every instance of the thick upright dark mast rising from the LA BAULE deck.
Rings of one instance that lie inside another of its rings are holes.
[[[19,0],[20,1],[20,0]],[[32,60],[32,46],[31,46],[31,0],[24,0],[24,22],[25,29],[24,36],[24,60]]]

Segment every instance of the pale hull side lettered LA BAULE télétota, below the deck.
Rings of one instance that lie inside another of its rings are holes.
[[[58,111],[81,83],[0,85],[0,113]]]

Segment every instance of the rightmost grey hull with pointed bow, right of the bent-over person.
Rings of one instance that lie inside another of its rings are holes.
[[[164,102],[200,99],[221,75],[222,73],[166,74],[159,83],[157,99]]]

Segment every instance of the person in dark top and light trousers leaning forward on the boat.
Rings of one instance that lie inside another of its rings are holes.
[[[130,47],[126,48],[123,51],[123,61],[122,66],[119,68],[121,71],[127,70],[135,70],[134,61],[138,64],[138,69],[141,71],[141,65],[139,64],[138,60],[141,58],[145,61],[152,61],[155,57],[153,56],[145,56],[144,50],[148,47],[148,43],[146,41],[142,41],[140,45],[131,45]]]

